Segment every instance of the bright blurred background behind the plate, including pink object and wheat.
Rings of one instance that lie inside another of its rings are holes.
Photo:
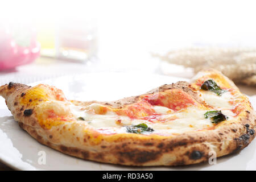
[[[0,84],[87,72],[224,72],[256,94],[255,1],[5,1]]]

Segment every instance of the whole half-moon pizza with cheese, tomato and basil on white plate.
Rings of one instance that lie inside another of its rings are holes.
[[[209,160],[210,152],[220,157],[240,151],[255,137],[248,98],[214,69],[190,82],[112,102],[67,100],[46,84],[10,82],[0,87],[0,95],[19,126],[38,142],[102,163],[196,164]]]

